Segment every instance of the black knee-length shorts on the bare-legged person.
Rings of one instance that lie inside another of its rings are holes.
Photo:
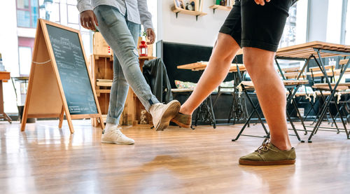
[[[254,0],[235,0],[220,32],[229,34],[243,47],[276,52],[293,0],[271,0],[265,6]]]

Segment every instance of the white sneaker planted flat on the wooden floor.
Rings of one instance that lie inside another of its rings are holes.
[[[134,139],[126,137],[123,132],[120,131],[121,127],[113,126],[109,130],[106,130],[104,134],[102,134],[102,143],[107,144],[119,144],[119,145],[130,145],[134,144]]]

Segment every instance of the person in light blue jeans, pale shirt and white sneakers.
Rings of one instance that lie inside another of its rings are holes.
[[[139,67],[136,45],[141,23],[150,40],[148,44],[155,41],[147,0],[78,0],[77,8],[80,12],[80,24],[91,30],[98,27],[114,53],[113,84],[102,142],[134,144],[134,140],[126,137],[118,125],[129,84],[145,109],[151,113],[155,130],[167,128],[170,120],[179,113],[180,103],[173,100],[168,104],[161,104],[152,94]]]

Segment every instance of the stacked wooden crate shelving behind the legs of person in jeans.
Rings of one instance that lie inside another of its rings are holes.
[[[139,43],[141,37],[139,38]],[[113,51],[109,49],[108,44],[104,41],[102,34],[94,33],[94,54],[90,56],[90,71],[92,72],[92,82],[96,88],[99,106],[102,111],[104,122],[109,109],[109,97],[111,92],[111,82],[113,80]],[[137,46],[139,48],[139,45]],[[148,46],[148,57],[139,57],[140,66],[144,65],[145,60],[152,60],[153,46]],[[142,69],[142,68],[141,68]],[[121,125],[139,125],[141,110],[145,109],[135,93],[129,88],[124,111],[120,117]],[[146,114],[148,123],[152,125],[151,114]],[[92,120],[92,125],[97,126],[97,119]],[[143,125],[145,126],[145,125]]]

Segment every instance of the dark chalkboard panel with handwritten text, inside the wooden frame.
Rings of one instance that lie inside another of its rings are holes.
[[[78,34],[48,24],[46,27],[69,113],[98,113]]]

